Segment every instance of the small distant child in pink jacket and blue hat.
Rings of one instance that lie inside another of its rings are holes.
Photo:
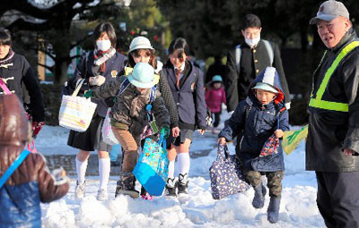
[[[222,87],[222,77],[220,75],[215,75],[210,82],[210,86],[206,89],[206,105],[211,110],[212,114],[215,114],[214,128],[212,133],[218,133],[217,127],[221,121],[221,111],[222,103],[225,101],[225,93]]]

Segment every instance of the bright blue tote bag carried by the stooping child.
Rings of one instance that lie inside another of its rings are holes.
[[[144,140],[144,149],[133,173],[138,182],[152,196],[161,196],[168,177],[169,159],[166,151],[166,139],[160,137]]]

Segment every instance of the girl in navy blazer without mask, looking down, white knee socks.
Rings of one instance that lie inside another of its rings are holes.
[[[170,159],[169,179],[166,184],[166,195],[188,194],[189,146],[193,132],[199,129],[206,131],[206,101],[203,72],[187,60],[189,47],[186,39],[176,38],[169,47],[169,60],[162,69],[179,113],[180,136],[170,136],[168,155]],[[179,182],[174,179],[174,161],[178,156]]]

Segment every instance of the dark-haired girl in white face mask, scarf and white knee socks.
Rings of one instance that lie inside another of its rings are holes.
[[[119,72],[124,70],[126,60],[125,55],[116,52],[116,33],[109,22],[99,24],[93,31],[92,37],[94,50],[82,56],[74,71],[74,77],[68,81],[68,86],[74,88],[78,80],[85,79],[82,91],[95,89],[105,81],[115,80],[120,76]],[[107,183],[109,182],[109,150],[111,147],[103,142],[101,128],[109,106],[113,106],[113,99],[92,98],[92,102],[98,106],[89,128],[84,132],[70,131],[67,145],[79,149],[75,158],[77,171],[75,198],[83,198],[85,195],[87,160],[90,152],[97,150],[100,173],[97,199],[104,200],[108,198]]]

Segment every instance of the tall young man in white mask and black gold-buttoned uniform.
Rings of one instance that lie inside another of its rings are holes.
[[[228,52],[223,80],[228,112],[233,111],[238,103],[247,97],[251,82],[267,66],[275,67],[279,73],[285,94],[285,106],[290,107],[289,89],[279,48],[276,43],[261,39],[261,30],[258,16],[247,14],[243,19],[241,30],[245,42]]]

